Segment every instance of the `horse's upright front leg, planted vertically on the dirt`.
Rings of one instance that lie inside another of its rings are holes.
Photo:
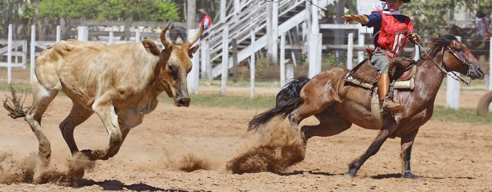
[[[412,145],[413,140],[415,140],[415,136],[419,128],[415,129],[413,132],[407,135],[401,136],[401,177],[408,179],[420,179],[421,176],[414,175],[410,172],[410,154],[412,153]]]

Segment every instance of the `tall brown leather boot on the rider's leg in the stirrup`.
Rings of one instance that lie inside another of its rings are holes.
[[[390,89],[390,76],[388,74],[381,74],[379,80],[377,81],[377,90],[379,91],[379,103],[381,104],[381,114],[386,114],[386,111],[397,112],[400,110],[401,105],[394,103],[391,99],[386,99],[388,97],[388,92]]]

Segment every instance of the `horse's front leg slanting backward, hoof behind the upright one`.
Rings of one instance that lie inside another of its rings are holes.
[[[353,178],[355,177],[355,174],[357,171],[361,168],[362,164],[366,162],[366,160],[369,159],[370,156],[374,155],[377,153],[379,148],[381,148],[381,145],[388,139],[388,136],[390,136],[395,130],[396,130],[396,122],[395,119],[387,120],[387,123],[389,124],[388,126],[383,126],[379,133],[377,134],[376,139],[372,142],[372,144],[369,146],[368,150],[364,155],[359,157],[358,159],[352,161],[350,165],[348,166],[348,172],[343,173],[343,176],[346,178]]]

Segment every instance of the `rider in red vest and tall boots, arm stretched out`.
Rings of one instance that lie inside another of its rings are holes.
[[[388,92],[390,87],[390,77],[388,75],[388,64],[396,57],[401,50],[405,47],[409,40],[407,34],[411,35],[410,41],[420,42],[420,37],[415,33],[413,24],[410,18],[405,15],[400,15],[400,6],[403,3],[408,3],[410,0],[381,0],[385,3],[381,3],[382,7],[375,5],[376,11],[373,11],[370,15],[345,15],[342,18],[345,19],[345,24],[350,21],[356,21],[362,26],[374,27],[374,47],[375,50],[369,52],[369,59],[374,65],[374,68],[380,73],[380,77],[377,81],[377,88],[379,91],[379,100],[381,104],[381,113],[385,114],[386,111],[396,112],[400,109],[401,105],[394,103],[388,98]],[[387,6],[387,9],[384,9]],[[402,31],[407,31],[403,32]],[[406,34],[405,34],[406,33]],[[386,111],[384,111],[386,110]]]

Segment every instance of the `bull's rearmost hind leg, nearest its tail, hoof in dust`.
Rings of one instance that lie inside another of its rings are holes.
[[[35,77],[34,77],[35,78]],[[32,82],[32,106],[29,108],[26,114],[26,121],[28,121],[31,126],[31,130],[36,135],[36,138],[39,142],[39,151],[38,155],[41,161],[44,163],[50,162],[51,156],[51,147],[50,141],[44,135],[41,129],[41,118],[43,117],[44,112],[50,105],[51,101],[57,96],[58,91],[56,90],[47,90],[43,86],[39,84],[37,79],[34,79]]]

